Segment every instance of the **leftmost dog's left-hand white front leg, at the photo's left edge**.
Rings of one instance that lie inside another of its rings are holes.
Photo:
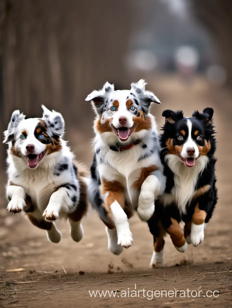
[[[10,200],[7,210],[13,214],[21,212],[26,207],[25,190],[11,182],[6,186],[6,198]]]

